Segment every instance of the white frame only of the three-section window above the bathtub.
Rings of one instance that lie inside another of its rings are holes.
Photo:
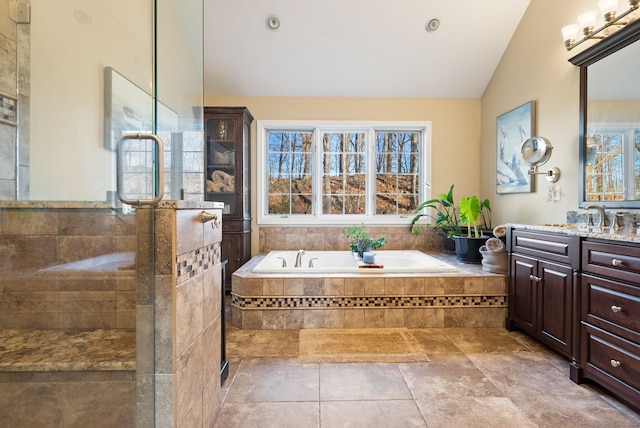
[[[420,166],[418,182],[418,203],[431,198],[431,122],[430,121],[329,121],[329,120],[258,120],[256,121],[256,222],[261,225],[294,225],[294,226],[340,226],[364,223],[367,225],[408,225],[415,214],[375,214],[375,198],[367,197],[364,215],[323,214],[321,195],[322,171],[322,134],[325,132],[366,132],[367,133],[367,184],[366,194],[375,195],[375,180],[370,174],[375,174],[375,133],[376,131],[420,131]],[[313,186],[313,214],[267,214],[267,132],[278,131],[311,131],[313,133],[312,156],[312,186]]]

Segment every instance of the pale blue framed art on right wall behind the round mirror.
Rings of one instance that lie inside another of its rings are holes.
[[[529,193],[534,180],[522,160],[522,143],[535,133],[535,101],[529,101],[498,116],[496,123],[496,193]]]

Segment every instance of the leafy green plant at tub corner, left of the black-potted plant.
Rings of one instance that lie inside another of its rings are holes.
[[[430,217],[433,219],[432,229],[440,234],[444,251],[455,253],[455,236],[460,235],[460,220],[458,218],[458,208],[453,200],[453,184],[449,188],[448,193],[440,193],[437,198],[429,199],[422,202],[416,208],[418,214],[413,217],[409,230],[414,235],[420,234],[420,227],[416,224],[422,217]],[[424,212],[429,208],[428,212]]]

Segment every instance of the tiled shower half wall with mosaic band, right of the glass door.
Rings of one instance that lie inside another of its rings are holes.
[[[221,209],[206,211],[222,218]],[[203,224],[201,212],[155,210],[156,424],[160,426],[213,426],[220,409],[222,233],[220,227],[212,227],[213,222]]]

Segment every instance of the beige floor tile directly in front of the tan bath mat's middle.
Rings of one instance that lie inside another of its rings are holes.
[[[410,399],[397,364],[321,364],[320,400]]]

